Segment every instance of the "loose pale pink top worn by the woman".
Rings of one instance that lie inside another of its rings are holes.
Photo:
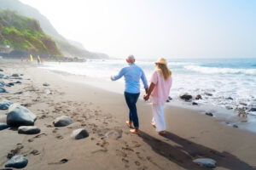
[[[155,87],[150,95],[149,101],[153,104],[164,105],[172,87],[172,77],[165,80],[165,78],[160,75],[159,71],[154,71],[150,82],[153,82]]]

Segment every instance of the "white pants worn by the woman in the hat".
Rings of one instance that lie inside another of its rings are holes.
[[[165,131],[166,130],[166,121],[163,111],[164,105],[152,105],[152,111],[153,111],[153,119],[152,122],[155,123],[156,131]]]

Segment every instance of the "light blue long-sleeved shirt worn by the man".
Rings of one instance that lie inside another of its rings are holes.
[[[118,80],[121,77],[125,77],[125,92],[130,94],[140,93],[140,79],[143,81],[144,88],[148,88],[147,78],[145,77],[143,69],[135,65],[134,63],[129,63],[129,66],[122,68],[119,74],[112,77],[113,81]]]

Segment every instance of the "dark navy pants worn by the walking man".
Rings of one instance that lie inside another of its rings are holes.
[[[136,107],[136,103],[139,95],[140,94],[130,94],[125,92],[125,101],[129,107],[129,121],[133,122],[133,126],[135,128],[139,127],[139,122],[137,118],[137,107]]]

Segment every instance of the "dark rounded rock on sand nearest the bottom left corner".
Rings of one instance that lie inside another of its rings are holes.
[[[5,167],[15,167],[15,168],[23,168],[26,167],[28,161],[24,156],[13,156],[7,163]]]

